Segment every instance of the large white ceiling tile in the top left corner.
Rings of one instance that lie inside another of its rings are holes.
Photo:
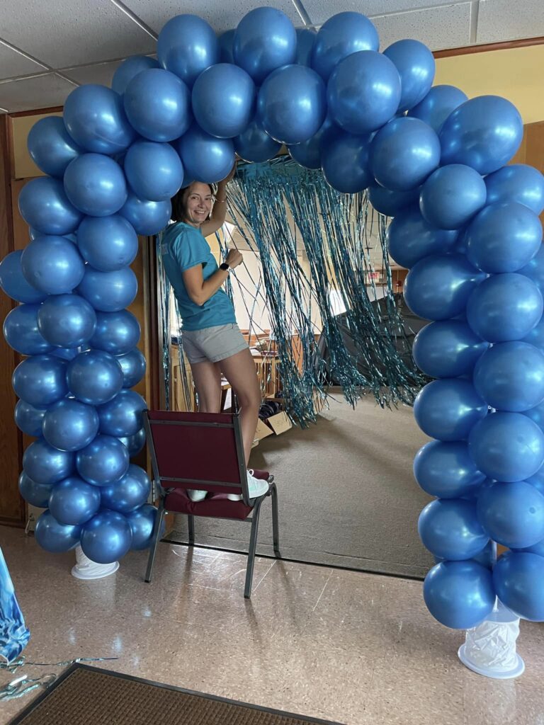
[[[149,33],[110,0],[4,0],[0,28],[5,41],[53,68],[155,49]]]

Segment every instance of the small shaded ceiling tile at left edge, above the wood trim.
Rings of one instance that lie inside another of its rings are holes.
[[[62,106],[75,86],[56,73],[0,83],[0,107],[9,113]]]

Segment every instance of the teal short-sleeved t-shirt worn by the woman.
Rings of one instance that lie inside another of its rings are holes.
[[[166,276],[178,299],[184,330],[236,323],[234,307],[223,289],[215,292],[204,305],[195,304],[187,294],[183,278],[185,270],[202,265],[202,276],[207,279],[218,269],[210,245],[199,229],[184,222],[170,224],[162,236],[160,253]]]

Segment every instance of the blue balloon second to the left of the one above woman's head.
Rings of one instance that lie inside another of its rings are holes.
[[[76,209],[91,217],[115,214],[127,199],[120,165],[104,154],[82,154],[65,171],[66,196]]]

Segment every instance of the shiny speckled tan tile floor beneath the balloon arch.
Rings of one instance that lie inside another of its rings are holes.
[[[463,633],[426,612],[418,581],[262,558],[247,601],[239,554],[160,544],[144,584],[144,552],[79,581],[73,552],[49,555],[7,527],[0,546],[30,661],[117,657],[98,666],[347,725],[544,723],[544,625],[522,623],[522,677],[480,677],[458,661]],[[0,705],[0,724],[30,697]]]

